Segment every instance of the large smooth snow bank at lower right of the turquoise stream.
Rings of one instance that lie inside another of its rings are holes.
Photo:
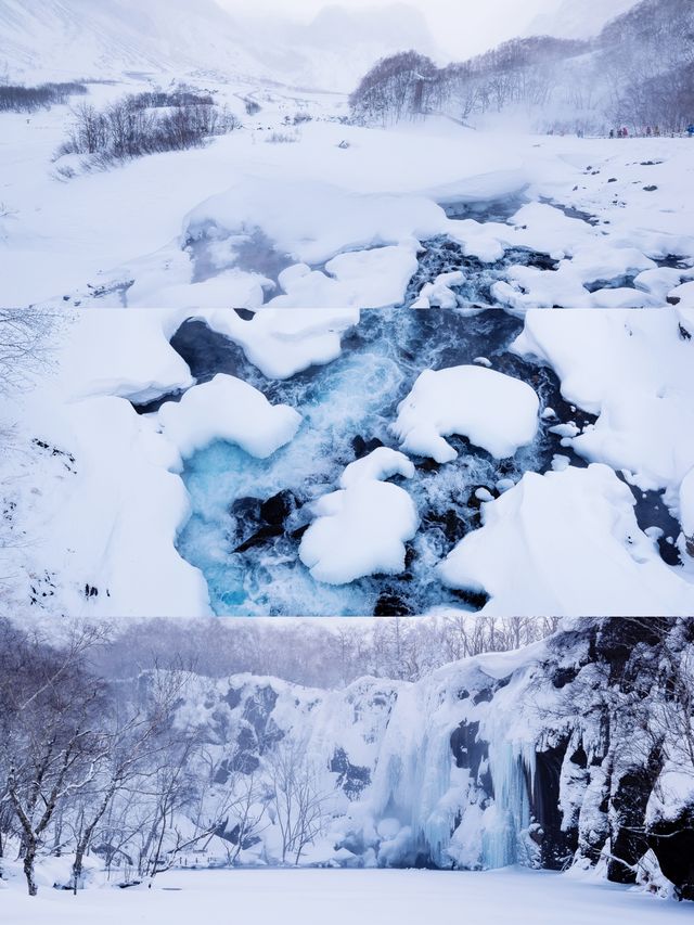
[[[694,613],[694,587],[641,532],[634,499],[607,466],[527,473],[483,505],[481,529],[438,568],[451,588],[486,591],[483,613],[650,616]]]

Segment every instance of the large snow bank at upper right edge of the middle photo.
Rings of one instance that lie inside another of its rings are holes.
[[[694,466],[694,342],[683,312],[529,311],[513,350],[548,362],[564,397],[599,415],[568,440],[629,470],[645,489],[679,488]]]

